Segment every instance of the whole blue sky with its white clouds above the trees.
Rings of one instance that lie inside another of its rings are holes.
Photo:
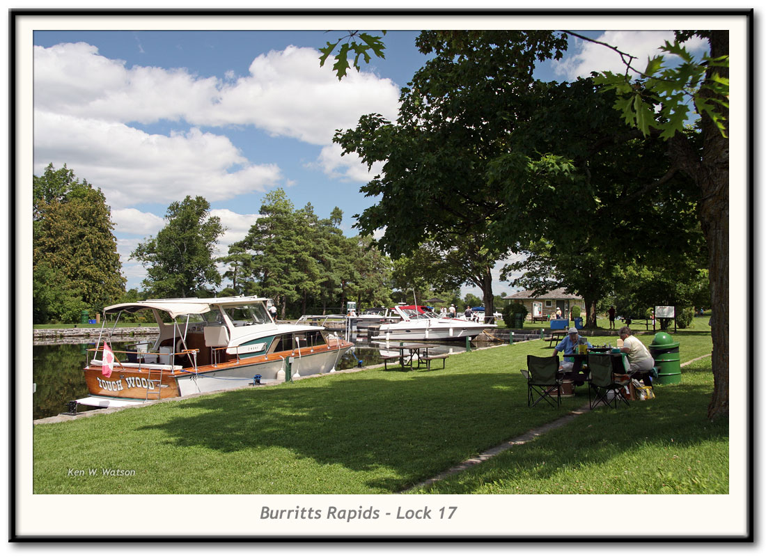
[[[394,119],[400,88],[426,57],[414,46],[417,31],[389,31],[385,59],[339,82],[331,62],[319,67],[317,49],[342,34],[35,31],[34,173],[66,163],[103,190],[128,287],[145,276],[130,251],[185,195],[207,198],[228,228],[221,253],[244,237],[273,188],[284,188],[296,207],[310,202],[321,218],[338,206],[353,235],[353,215],[371,204],[359,187],[375,172],[341,158],[332,133],[365,113]],[[671,36],[588,34],[643,57]],[[619,70],[614,54],[594,47],[571,41],[565,60],[538,77]],[[499,277],[494,289],[514,290]]]

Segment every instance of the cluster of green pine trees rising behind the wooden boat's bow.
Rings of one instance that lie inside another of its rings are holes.
[[[311,204],[296,209],[283,189],[267,193],[244,240],[232,244],[237,289],[275,300],[283,315],[343,308],[347,300],[390,303],[391,260],[368,238],[347,238],[342,211],[319,218]]]

